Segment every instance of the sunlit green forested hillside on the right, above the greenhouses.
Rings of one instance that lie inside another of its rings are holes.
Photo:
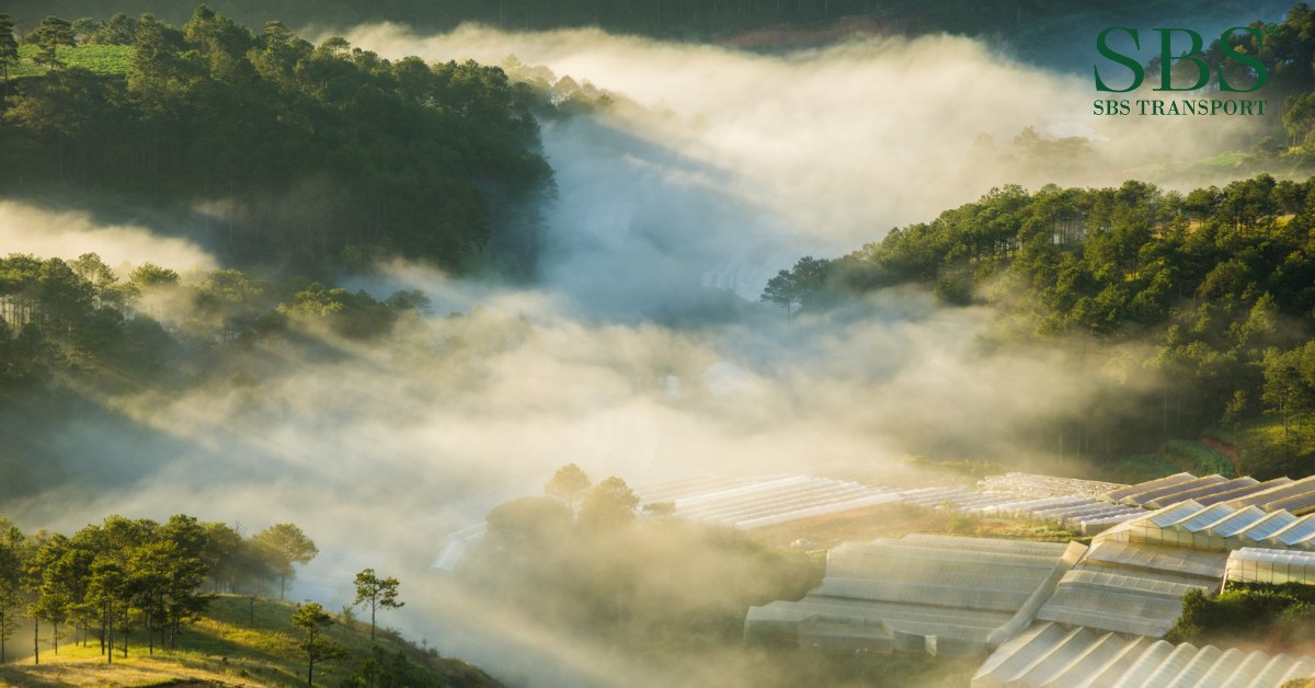
[[[1281,433],[1244,454],[1243,472],[1308,475],[1312,193],[1315,179],[1268,175],[1187,195],[1139,182],[1005,187],[849,255],[806,257],[763,297],[821,312],[914,283],[951,304],[986,303],[997,313],[994,346],[1063,345],[1093,376],[1114,368],[1162,380],[1153,393],[1111,392],[1063,422],[1053,434],[1068,451],[1110,459],[1274,422]],[[1149,353],[1130,360],[1128,351]]]

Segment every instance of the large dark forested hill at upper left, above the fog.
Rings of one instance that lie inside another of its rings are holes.
[[[117,14],[14,32],[47,71],[5,84],[8,193],[191,209],[234,264],[323,275],[404,255],[468,268],[494,225],[531,232],[527,208],[551,185],[526,89],[497,67],[314,46],[204,5],[181,26]],[[118,75],[66,67],[59,46],[74,43],[130,46],[132,59]],[[529,270],[525,253],[508,268]]]

